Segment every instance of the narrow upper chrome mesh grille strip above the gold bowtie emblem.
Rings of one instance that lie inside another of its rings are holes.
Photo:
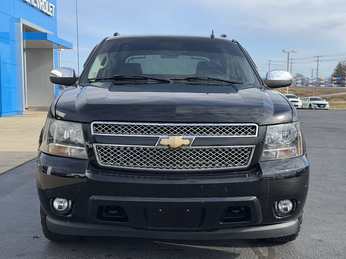
[[[93,135],[120,136],[199,136],[199,137],[255,137],[256,124],[168,124],[168,123],[121,123],[93,122]]]

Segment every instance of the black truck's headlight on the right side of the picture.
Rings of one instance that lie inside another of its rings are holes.
[[[299,122],[267,126],[261,161],[297,157],[302,154]]]

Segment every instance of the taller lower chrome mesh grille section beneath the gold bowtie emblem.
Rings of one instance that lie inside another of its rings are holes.
[[[247,167],[254,146],[185,147],[94,144],[101,166],[142,170],[217,170]]]

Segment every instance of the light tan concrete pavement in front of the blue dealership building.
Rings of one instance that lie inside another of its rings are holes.
[[[38,137],[47,111],[25,110],[25,115],[0,117],[0,174],[37,156]]]

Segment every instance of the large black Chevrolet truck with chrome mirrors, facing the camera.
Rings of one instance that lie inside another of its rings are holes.
[[[309,163],[294,106],[271,89],[288,72],[262,80],[225,35],[115,34],[79,77],[51,81],[70,87],[39,141],[48,239],[298,236]]]

